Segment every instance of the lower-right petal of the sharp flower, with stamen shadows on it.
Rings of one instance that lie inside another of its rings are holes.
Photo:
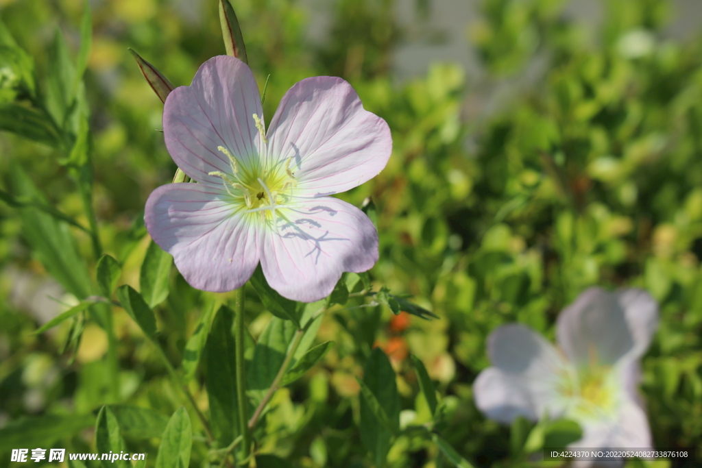
[[[292,300],[329,295],[342,272],[365,272],[378,261],[378,232],[355,206],[323,197],[280,210],[266,230],[261,267],[268,284]]]

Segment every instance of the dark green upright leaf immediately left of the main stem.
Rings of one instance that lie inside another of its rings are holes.
[[[232,309],[220,307],[205,345],[205,382],[211,427],[215,439],[222,447],[228,446],[239,435],[233,323]]]

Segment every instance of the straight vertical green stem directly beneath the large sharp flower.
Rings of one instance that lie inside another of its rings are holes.
[[[234,354],[237,365],[237,406],[239,406],[239,433],[241,435],[240,459],[248,460],[251,452],[251,432],[246,425],[246,369],[244,368],[244,352],[246,351],[246,325],[244,324],[245,293],[244,286],[237,289],[234,298]]]

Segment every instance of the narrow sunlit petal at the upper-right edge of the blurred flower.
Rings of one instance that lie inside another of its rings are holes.
[[[617,291],[616,301],[624,311],[634,340],[629,357],[640,358],[658,329],[658,303],[646,290],[637,288]]]

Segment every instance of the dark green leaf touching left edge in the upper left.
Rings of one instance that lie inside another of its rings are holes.
[[[61,138],[51,123],[51,117],[32,107],[9,102],[0,105],[0,130],[43,145],[58,148]]]

